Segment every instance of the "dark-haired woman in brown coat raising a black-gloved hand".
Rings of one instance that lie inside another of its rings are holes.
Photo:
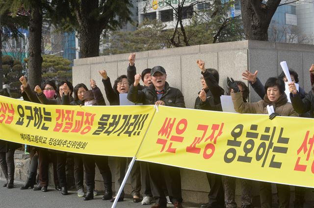
[[[263,100],[256,103],[243,102],[241,92],[235,82],[228,78],[228,86],[232,88],[232,101],[235,111],[241,114],[268,114],[266,106],[273,106],[275,113],[269,116],[270,119],[275,116],[298,116],[291,103],[288,103],[285,93],[285,83],[282,79],[270,77],[265,83],[265,96]],[[279,198],[279,208],[288,208],[290,201],[290,187],[288,185],[277,184]],[[271,184],[260,182],[261,207],[271,208]]]

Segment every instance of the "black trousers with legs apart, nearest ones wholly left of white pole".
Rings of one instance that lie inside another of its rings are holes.
[[[85,168],[85,184],[89,187],[95,187],[95,163],[103,177],[105,191],[112,191],[112,177],[108,165],[107,156],[84,155],[83,164]]]

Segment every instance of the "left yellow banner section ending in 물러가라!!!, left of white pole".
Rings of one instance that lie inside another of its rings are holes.
[[[153,106],[41,105],[0,96],[0,139],[90,155],[134,157]]]

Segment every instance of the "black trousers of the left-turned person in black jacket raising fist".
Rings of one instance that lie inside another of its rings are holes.
[[[208,194],[209,205],[213,208],[224,208],[225,197],[221,175],[206,173],[206,176],[210,186]]]

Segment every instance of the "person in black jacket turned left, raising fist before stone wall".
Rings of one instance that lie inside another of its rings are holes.
[[[220,95],[224,94],[224,89],[219,85],[219,74],[216,69],[205,69],[205,62],[197,60],[197,65],[201,69],[202,90],[195,100],[195,109],[222,111]],[[207,173],[210,191],[208,194],[209,203],[204,204],[201,208],[223,208],[224,207],[224,190],[221,175]]]

